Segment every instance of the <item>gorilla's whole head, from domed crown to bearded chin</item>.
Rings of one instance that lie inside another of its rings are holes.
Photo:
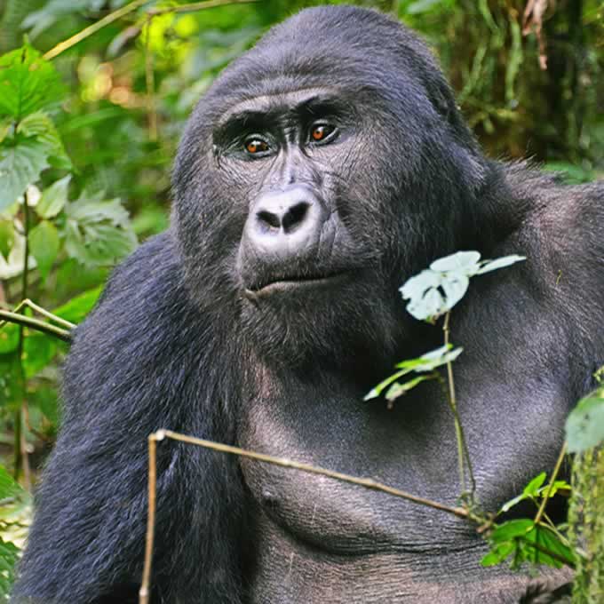
[[[333,15],[301,12],[227,68],[174,174],[193,296],[234,304],[244,339],[295,360],[388,354],[397,287],[455,246],[482,178],[424,45],[377,13]]]

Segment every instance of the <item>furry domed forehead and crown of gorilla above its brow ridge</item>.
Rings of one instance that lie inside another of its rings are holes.
[[[215,121],[241,100],[334,83],[389,103],[448,89],[432,53],[399,22],[354,6],[320,6],[272,28],[222,72],[198,110]]]

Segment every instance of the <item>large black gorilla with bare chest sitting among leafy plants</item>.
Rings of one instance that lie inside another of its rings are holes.
[[[136,601],[160,427],[454,505],[439,386],[393,410],[362,397],[441,344],[398,288],[455,250],[528,258],[453,314],[481,505],[551,470],[604,362],[604,187],[481,155],[408,29],[350,6],[272,29],[195,109],[174,195],[171,229],[76,330],[13,601]],[[528,601],[528,577],[481,568],[453,516],[179,442],[158,456],[156,603]]]

